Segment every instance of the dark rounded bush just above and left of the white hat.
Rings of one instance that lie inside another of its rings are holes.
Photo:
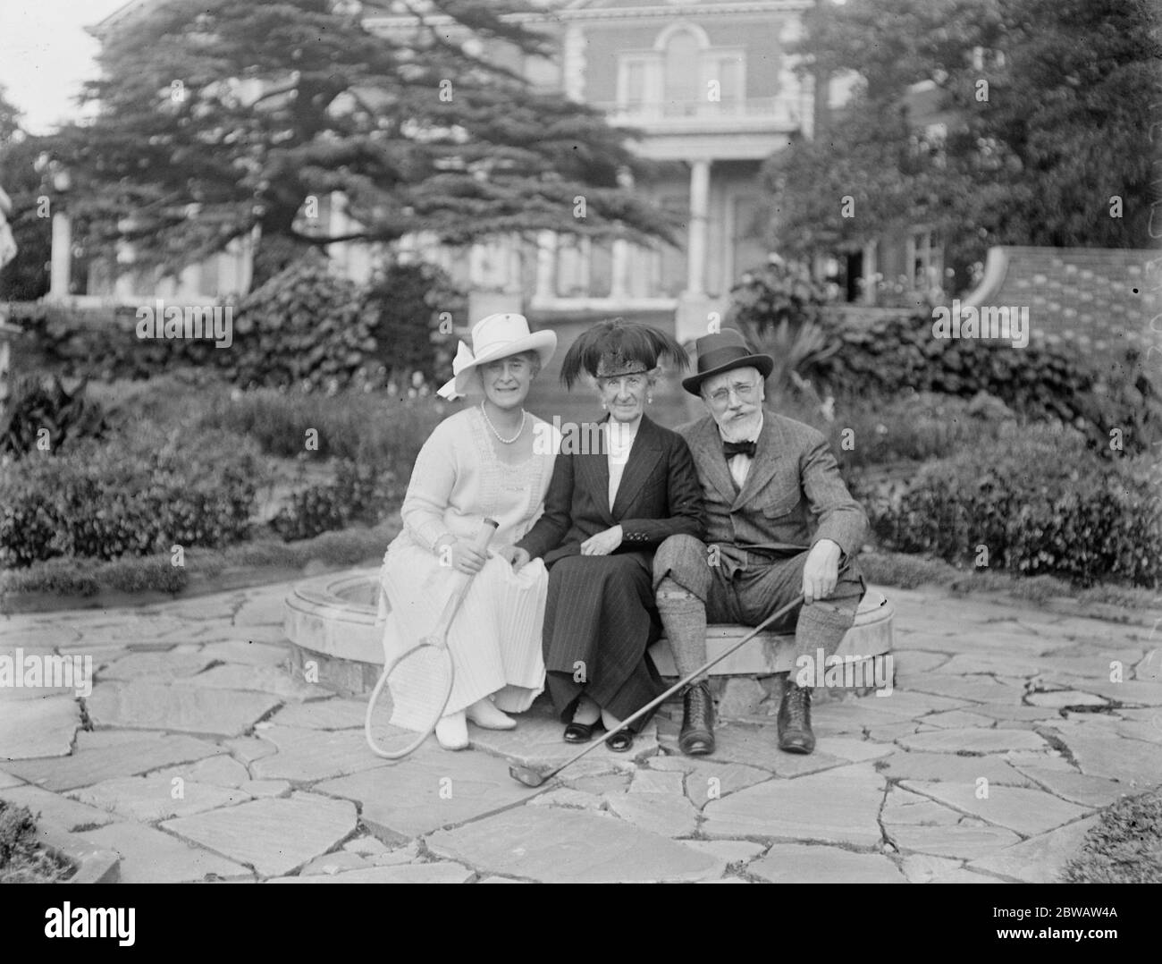
[[[392,264],[366,292],[375,321],[372,335],[388,379],[401,383],[419,372],[431,383],[451,371],[453,326],[467,321],[467,298],[433,264]]]

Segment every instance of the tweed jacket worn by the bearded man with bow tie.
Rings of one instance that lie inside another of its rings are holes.
[[[835,542],[842,560],[863,544],[867,514],[839,476],[822,433],[765,410],[762,431],[741,491],[723,456],[722,435],[705,417],[677,428],[698,470],[706,508],[706,543],[717,544],[727,576],[748,560],[786,557],[822,538]]]

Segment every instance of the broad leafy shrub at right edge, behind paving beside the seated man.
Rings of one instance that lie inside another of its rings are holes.
[[[1077,433],[1027,427],[860,492],[881,544],[1082,586],[1162,579],[1162,499],[1141,459],[1102,462]]]

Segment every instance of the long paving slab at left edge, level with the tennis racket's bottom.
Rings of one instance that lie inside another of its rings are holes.
[[[114,777],[132,777],[162,766],[188,763],[222,752],[221,747],[192,736],[158,737],[138,733],[127,740],[125,734],[110,734],[114,738],[106,745],[93,747],[86,747],[81,742],[85,736],[95,735],[78,734],[78,747],[72,756],[60,759],[21,761],[8,764],[7,769],[29,783],[60,792],[89,786]]]

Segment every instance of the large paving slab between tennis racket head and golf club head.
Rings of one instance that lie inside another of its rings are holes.
[[[514,780],[508,767],[485,754],[438,750],[325,780],[315,790],[357,801],[363,823],[390,842],[478,820],[538,792]]]

